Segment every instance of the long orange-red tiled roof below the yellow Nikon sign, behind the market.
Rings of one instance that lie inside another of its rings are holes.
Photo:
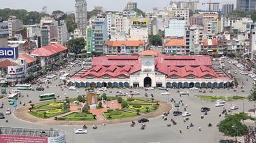
[[[111,47],[120,47],[122,45],[138,47],[140,45],[145,46],[145,41],[144,40],[106,41],[104,45],[111,46]]]

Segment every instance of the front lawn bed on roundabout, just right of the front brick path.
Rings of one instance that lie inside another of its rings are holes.
[[[136,113],[124,110],[115,110],[114,112],[115,114],[111,114],[111,112],[104,112],[103,114],[107,119],[128,118],[132,116],[138,116]],[[111,118],[109,118],[109,114],[111,115]]]

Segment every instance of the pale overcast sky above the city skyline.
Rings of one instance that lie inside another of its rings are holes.
[[[94,6],[103,6],[104,10],[123,10],[127,1],[137,1],[139,9],[148,12],[152,7],[166,7],[170,0],[87,0],[87,9],[93,10]],[[173,0],[175,1],[175,0]],[[178,0],[176,0],[178,1]],[[208,1],[208,0],[199,0]],[[74,0],[0,0],[0,9],[25,9],[28,11],[41,11],[43,6],[47,6],[47,12],[53,10],[61,10],[63,12],[74,11]],[[236,0],[212,0],[212,2],[220,3],[234,3],[236,7]],[[201,9],[206,10],[206,6],[200,6]],[[220,7],[221,8],[221,7]]]

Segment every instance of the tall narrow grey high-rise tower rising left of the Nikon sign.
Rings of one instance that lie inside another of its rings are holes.
[[[78,29],[82,31],[83,35],[86,35],[87,29],[87,3],[85,0],[75,0],[76,7],[76,24]]]

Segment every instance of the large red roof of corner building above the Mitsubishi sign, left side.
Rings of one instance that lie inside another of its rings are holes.
[[[62,46],[61,44],[53,44],[44,46],[42,48],[37,48],[31,52],[31,54],[36,54],[39,57],[50,57],[53,54],[57,54],[59,52],[63,52],[65,50],[68,50],[65,46]]]

